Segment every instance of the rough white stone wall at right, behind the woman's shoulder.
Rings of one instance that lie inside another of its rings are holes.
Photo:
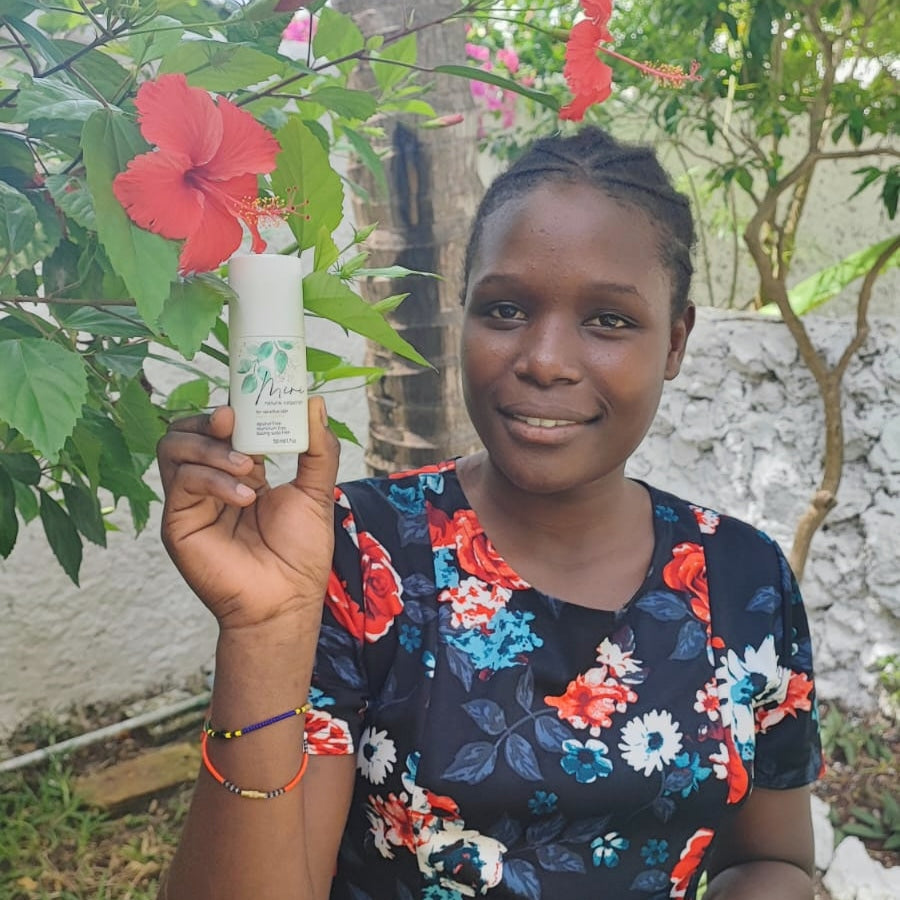
[[[833,363],[846,319],[807,326]],[[678,379],[630,471],[747,519],[788,550],[821,471],[815,382],[780,322],[701,309]],[[820,694],[871,704],[874,664],[900,650],[900,340],[872,335],[845,377],[847,458],[838,505],[813,540],[803,594]]]

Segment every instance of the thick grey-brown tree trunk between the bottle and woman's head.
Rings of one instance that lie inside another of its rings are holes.
[[[368,37],[389,37],[410,21],[412,4],[371,0],[337,0],[335,7],[353,16]],[[412,24],[440,19],[459,8],[456,0],[416,3]],[[461,63],[465,58],[462,22],[448,22],[418,32],[418,64]],[[424,76],[419,76],[424,77]],[[370,265],[401,265],[435,272],[422,276],[370,279],[363,296],[377,301],[391,294],[410,296],[390,316],[392,324],[435,367],[422,369],[379,347],[367,348],[367,365],[387,374],[368,388],[369,440],[366,464],[376,475],[402,471],[469,452],[478,444],[466,415],[459,380],[460,291],[469,225],[481,197],[476,170],[476,123],[468,82],[447,76],[434,79],[426,99],[437,115],[462,112],[464,121],[449,128],[422,130],[411,116],[384,122],[385,138],[376,149],[388,151],[388,194],[361,164],[350,178],[369,194],[354,196],[360,223],[378,222],[368,239]]]

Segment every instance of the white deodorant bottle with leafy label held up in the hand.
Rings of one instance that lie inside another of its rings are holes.
[[[296,256],[232,257],[228,357],[232,446],[242,453],[309,449],[303,273]]]

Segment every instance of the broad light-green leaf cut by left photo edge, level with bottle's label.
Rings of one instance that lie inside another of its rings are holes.
[[[55,460],[87,399],[81,357],[41,338],[0,344],[0,419]]]

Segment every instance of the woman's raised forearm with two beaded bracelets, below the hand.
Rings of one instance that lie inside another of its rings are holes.
[[[317,629],[274,621],[225,631],[216,652],[213,727],[235,729],[306,702]],[[293,778],[302,760],[304,717],[230,740],[210,740],[210,760],[241,788],[267,791]],[[165,900],[300,900],[315,896],[305,853],[303,790],[273,799],[235,796],[202,770]]]

